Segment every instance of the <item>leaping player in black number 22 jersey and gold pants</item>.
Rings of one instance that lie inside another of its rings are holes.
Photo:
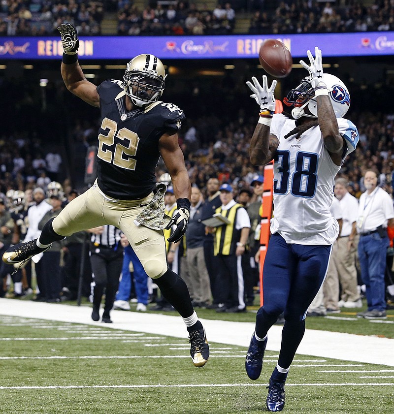
[[[68,203],[49,221],[38,239],[18,244],[3,255],[19,263],[49,248],[76,231],[110,224],[120,228],[147,275],[182,316],[191,342],[194,365],[209,356],[205,330],[193,309],[185,282],[167,266],[164,227],[175,226],[170,242],[181,239],[189,221],[191,184],[178,142],[185,119],[176,105],[159,100],[164,92],[165,69],[156,56],[133,58],[123,82],[106,80],[98,87],[89,82],[78,63],[79,40],[75,28],[59,28],[65,53],[61,72],[66,88],[100,108],[98,178],[94,185]],[[177,214],[164,216],[163,189],[156,188],[155,168],[162,157],[177,199]]]

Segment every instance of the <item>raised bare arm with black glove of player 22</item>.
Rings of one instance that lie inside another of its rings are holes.
[[[78,63],[79,39],[76,29],[69,23],[62,23],[58,27],[62,37],[63,59],[61,73],[66,88],[90,105],[99,107],[99,94],[96,85],[89,82]]]

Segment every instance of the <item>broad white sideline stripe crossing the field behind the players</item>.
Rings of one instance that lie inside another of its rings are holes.
[[[103,324],[91,319],[88,306],[71,306],[0,298],[0,315],[24,318],[56,320],[60,322],[99,325],[125,331],[166,335],[187,340],[187,331],[182,318],[161,314],[113,311],[114,323]],[[208,341],[221,344],[249,346],[254,330],[252,322],[230,322],[201,319]],[[267,350],[279,351],[282,326],[272,326],[268,333]],[[306,329],[297,354],[337,358],[394,367],[394,339],[361,336],[339,332]]]

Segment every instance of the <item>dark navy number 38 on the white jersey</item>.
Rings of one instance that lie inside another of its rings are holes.
[[[296,197],[312,198],[316,192],[318,155],[298,151],[296,153],[295,171],[290,170],[290,151],[276,151],[275,164],[280,174],[274,178],[274,193],[286,194],[289,190],[290,174],[292,184],[290,192]]]

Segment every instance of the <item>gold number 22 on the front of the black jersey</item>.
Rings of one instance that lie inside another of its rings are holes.
[[[104,131],[109,129],[109,131],[107,135],[99,134],[99,151],[97,153],[99,159],[121,168],[135,170],[136,160],[131,157],[137,153],[139,143],[138,135],[127,128],[118,130],[118,124],[108,118],[102,120],[101,128]],[[114,145],[115,136],[122,140],[124,144],[117,143],[114,148],[104,149],[103,145],[107,147]]]

